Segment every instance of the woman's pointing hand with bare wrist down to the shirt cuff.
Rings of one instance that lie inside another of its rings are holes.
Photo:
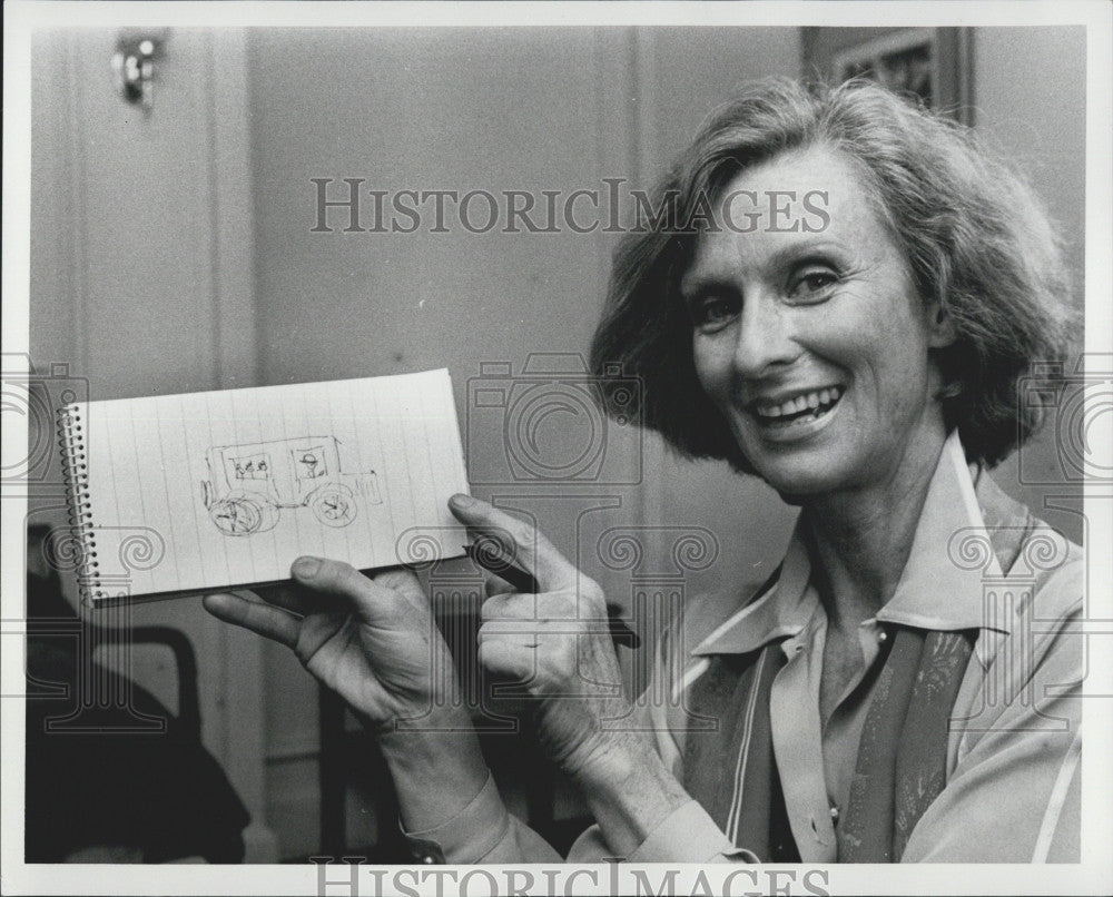
[[[602,590],[549,541],[486,502],[454,495],[452,512],[486,556],[524,569],[536,594],[486,600],[480,662],[522,683],[535,701],[549,756],[580,786],[615,856],[629,856],[691,801],[664,768],[650,733],[631,724]]]

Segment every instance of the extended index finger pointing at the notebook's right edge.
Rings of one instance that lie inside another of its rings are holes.
[[[574,588],[577,569],[535,526],[470,495],[453,495],[449,507],[456,520],[485,540],[485,550],[496,550],[508,563],[532,573],[543,590]]]

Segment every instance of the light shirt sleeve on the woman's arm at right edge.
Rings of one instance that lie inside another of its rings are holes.
[[[1054,588],[1081,595],[1081,578],[1058,578]],[[1037,603],[1067,603],[1060,595]],[[902,861],[1080,860],[1081,599],[1067,607],[1057,619],[1030,613],[1002,642],[962,721],[955,769]]]

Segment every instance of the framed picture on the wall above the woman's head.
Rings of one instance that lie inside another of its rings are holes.
[[[808,77],[867,78],[973,125],[967,28],[805,28]]]

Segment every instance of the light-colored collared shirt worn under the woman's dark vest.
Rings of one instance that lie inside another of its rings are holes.
[[[656,683],[636,703],[673,775],[683,781],[684,696],[713,654],[746,653],[780,642],[772,682],[772,745],[796,846],[805,862],[837,861],[835,827],[855,770],[858,743],[881,662],[884,624],[976,630],[955,700],[946,785],[912,831],[902,861],[1077,861],[1082,722],[1083,560],[1078,546],[1038,525],[1003,573],[995,533],[1022,528],[1015,503],[966,464],[957,433],[940,454],[908,561],[893,598],[859,629],[865,664],[828,723],[819,717],[827,618],[812,584],[800,528],[780,574],[757,600],[732,612],[696,601],[662,639]],[[683,662],[676,662],[682,658]],[[676,672],[670,674],[670,670]],[[660,686],[667,682],[667,688]],[[669,700],[650,701],[667,694]],[[631,719],[623,721],[629,729]],[[637,724],[637,723],[636,723]],[[745,745],[738,745],[745,751]],[[735,762],[723,757],[723,763]],[[737,763],[741,768],[742,763]],[[741,802],[742,776],[732,800]],[[728,825],[729,828],[729,825]],[[447,862],[542,862],[556,852],[510,816],[493,779],[456,817],[407,832],[418,859]],[[632,862],[760,861],[697,801],[666,818],[624,859]],[[598,826],[572,846],[570,862],[613,858]]]

